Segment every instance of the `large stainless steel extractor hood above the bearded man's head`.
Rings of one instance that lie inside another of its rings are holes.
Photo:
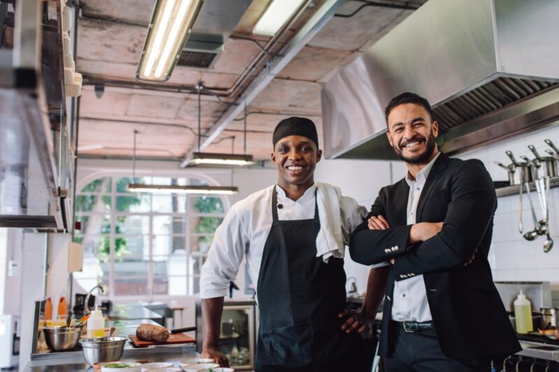
[[[384,107],[413,91],[456,154],[559,120],[559,1],[430,0],[322,89],[328,158],[393,158]]]

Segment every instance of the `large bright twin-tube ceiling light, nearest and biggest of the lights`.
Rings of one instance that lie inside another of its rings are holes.
[[[169,79],[203,0],[157,0],[136,70],[141,80]]]

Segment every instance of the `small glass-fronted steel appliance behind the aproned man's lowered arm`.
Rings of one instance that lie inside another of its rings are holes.
[[[219,348],[228,357],[235,371],[254,370],[254,354],[258,329],[258,309],[256,302],[224,303]],[[202,311],[201,303],[196,303],[196,347],[202,351]]]

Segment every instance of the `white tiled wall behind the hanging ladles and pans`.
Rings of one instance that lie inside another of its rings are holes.
[[[545,128],[542,131],[521,135],[511,139],[490,144],[483,149],[476,149],[460,158],[479,158],[486,165],[495,181],[507,180],[507,172],[494,164],[500,161],[509,164],[511,161],[505,154],[510,150],[518,161],[521,155],[534,158],[528,150],[528,144],[533,144],[541,156],[547,155],[550,149],[544,139],[549,138],[559,145],[559,124]],[[532,193],[536,215],[542,218],[542,209],[536,193]],[[532,230],[534,223],[530,213],[528,197],[523,195],[523,225],[524,232]],[[534,241],[523,239],[518,232],[519,198],[510,195],[499,198],[495,213],[495,228],[493,230],[493,244],[489,253],[489,262],[493,269],[495,281],[550,281],[553,289],[559,289],[559,188],[552,188],[549,201],[549,231],[555,240],[555,246],[549,253],[544,253],[545,237],[537,237]]]

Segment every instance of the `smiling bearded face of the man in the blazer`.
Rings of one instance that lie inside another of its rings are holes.
[[[427,164],[433,157],[439,135],[439,124],[431,119],[425,107],[404,103],[392,109],[386,137],[395,153],[406,163]]]

